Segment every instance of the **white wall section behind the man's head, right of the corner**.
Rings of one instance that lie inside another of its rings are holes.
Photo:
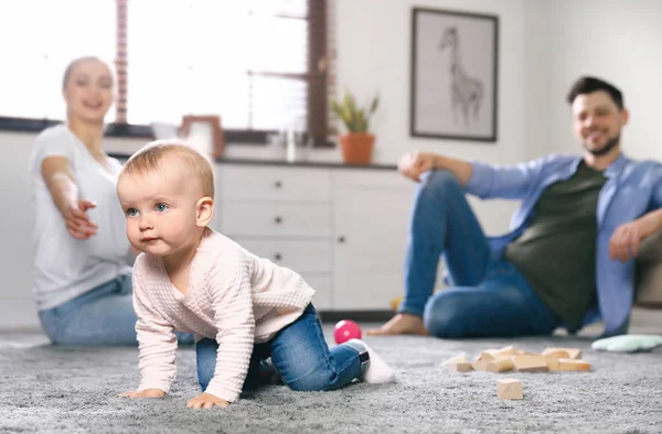
[[[631,111],[623,151],[662,160],[662,1],[525,2],[530,156],[580,151],[565,96],[589,74],[612,82]]]

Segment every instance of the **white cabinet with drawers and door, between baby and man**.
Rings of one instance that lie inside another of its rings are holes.
[[[291,268],[320,311],[387,311],[403,292],[414,185],[395,170],[218,163],[214,229]]]

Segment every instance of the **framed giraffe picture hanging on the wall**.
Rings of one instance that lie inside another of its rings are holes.
[[[496,141],[499,18],[412,10],[410,135]]]

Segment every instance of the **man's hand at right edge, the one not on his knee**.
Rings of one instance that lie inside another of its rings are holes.
[[[626,262],[639,254],[639,243],[660,230],[662,221],[658,213],[647,214],[616,228],[609,239],[609,258]]]

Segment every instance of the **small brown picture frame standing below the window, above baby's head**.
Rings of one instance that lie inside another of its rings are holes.
[[[214,159],[223,158],[225,134],[220,116],[186,115],[182,118],[180,134],[203,154]]]

